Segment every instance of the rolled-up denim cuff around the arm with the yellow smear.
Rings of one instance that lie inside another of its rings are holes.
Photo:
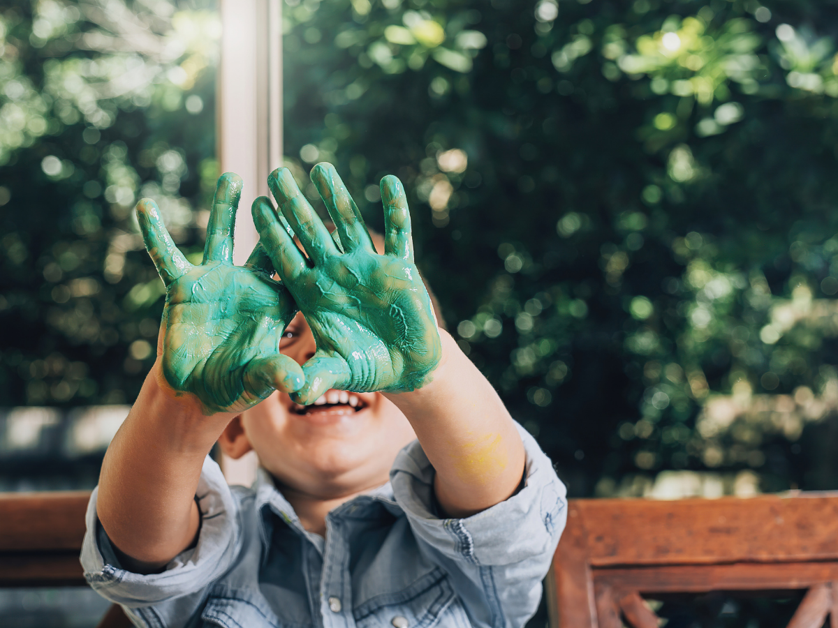
[[[526,452],[524,486],[504,502],[463,519],[436,516],[435,471],[418,441],[401,450],[391,484],[417,537],[452,559],[476,565],[515,564],[552,555],[565,527],[566,489],[532,435],[515,425]]]

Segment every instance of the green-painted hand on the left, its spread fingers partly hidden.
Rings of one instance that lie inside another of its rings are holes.
[[[241,412],[274,389],[292,392],[303,371],[279,353],[279,339],[297,313],[272,279],[261,243],[244,266],[233,265],[233,227],[241,178],[221,175],[207,225],[204,261],[194,266],[175,247],[157,205],[137,203],[148,255],[166,285],[163,377],[176,393],[194,394],[205,414]]]

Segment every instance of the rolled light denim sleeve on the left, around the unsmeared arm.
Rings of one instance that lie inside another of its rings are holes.
[[[207,456],[201,471],[195,496],[201,512],[198,543],[179,553],[158,574],[122,569],[96,516],[97,494],[98,487],[87,507],[81,548],[87,582],[106,599],[122,605],[137,625],[184,624],[202,602],[204,590],[229,569],[241,545],[238,502],[218,464]]]

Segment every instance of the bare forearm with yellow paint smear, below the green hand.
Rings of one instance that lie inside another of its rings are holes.
[[[446,332],[432,380],[410,393],[386,394],[406,415],[437,471],[440,506],[466,517],[515,494],[525,452],[515,422],[489,381]]]

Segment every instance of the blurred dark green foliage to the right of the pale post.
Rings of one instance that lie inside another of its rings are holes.
[[[838,484],[836,3],[286,4],[286,152],[402,178],[572,494]]]

